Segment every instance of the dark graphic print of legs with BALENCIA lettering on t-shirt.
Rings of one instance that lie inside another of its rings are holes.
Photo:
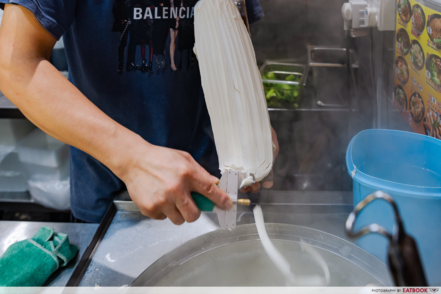
[[[197,62],[193,53],[193,18],[197,1],[115,0],[112,31],[121,36],[118,46],[118,73],[124,73],[124,64],[126,72],[139,70],[142,73],[153,73],[155,69],[157,72],[164,72],[168,66],[172,70],[181,70],[183,64],[187,69],[193,69]],[[179,56],[175,56],[176,43]],[[140,46],[142,64],[136,62],[137,46]],[[165,62],[167,55],[170,57],[169,65]],[[179,60],[177,65],[176,59]]]

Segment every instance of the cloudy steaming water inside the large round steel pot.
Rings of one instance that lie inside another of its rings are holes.
[[[294,275],[322,273],[317,263],[302,252],[299,243],[274,241],[292,265]],[[365,286],[376,283],[366,271],[351,264],[334,260],[333,253],[318,249],[329,263],[329,286]],[[167,275],[155,286],[285,286],[284,276],[269,260],[260,241],[237,243],[217,248],[183,263],[179,270]]]

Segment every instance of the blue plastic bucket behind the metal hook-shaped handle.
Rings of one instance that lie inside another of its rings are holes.
[[[352,138],[346,165],[354,206],[381,190],[392,196],[406,232],[415,238],[429,285],[441,284],[441,141],[397,130],[364,130]],[[380,199],[366,206],[355,229],[377,223],[392,232],[392,207]],[[386,263],[387,240],[368,234],[355,242]]]

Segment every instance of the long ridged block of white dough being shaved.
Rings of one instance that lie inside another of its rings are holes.
[[[271,127],[253,45],[235,4],[198,1],[194,37],[219,169],[252,172],[260,181],[273,166]]]

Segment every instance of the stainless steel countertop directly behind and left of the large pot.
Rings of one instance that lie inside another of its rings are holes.
[[[257,197],[258,202],[293,204],[263,205],[265,222],[303,225],[346,239],[344,223],[352,209],[352,192],[267,191]],[[239,206],[237,216],[238,225],[254,223],[248,206]],[[202,213],[197,221],[177,226],[139,211],[118,210],[79,286],[130,285],[165,253],[219,228],[214,213]]]

